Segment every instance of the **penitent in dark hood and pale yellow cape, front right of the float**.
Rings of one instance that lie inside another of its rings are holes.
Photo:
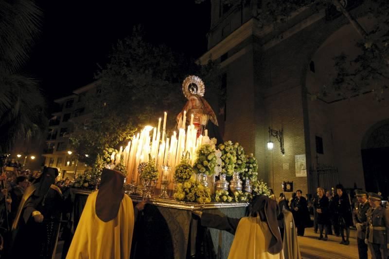
[[[280,258],[283,242],[277,221],[279,213],[275,200],[263,195],[257,196],[250,216],[239,221],[229,259]]]

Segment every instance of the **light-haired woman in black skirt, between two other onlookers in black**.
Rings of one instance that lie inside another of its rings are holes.
[[[328,240],[328,226],[330,223],[330,216],[328,213],[328,198],[324,195],[324,189],[318,187],[318,196],[315,198],[314,209],[317,213],[318,229],[320,232],[319,240]],[[324,238],[323,238],[324,229]]]

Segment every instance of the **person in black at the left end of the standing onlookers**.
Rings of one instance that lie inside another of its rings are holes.
[[[293,218],[297,227],[298,236],[304,235],[305,226],[308,224],[308,221],[311,220],[309,217],[307,200],[301,194],[302,191],[297,190],[296,198],[290,204],[290,208],[294,211]]]

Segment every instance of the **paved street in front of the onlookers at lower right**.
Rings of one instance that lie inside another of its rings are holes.
[[[357,259],[356,231],[350,232],[350,244],[339,244],[341,237],[328,236],[328,241],[318,240],[313,228],[305,229],[305,235],[298,237],[303,259]],[[369,255],[369,258],[370,255]]]

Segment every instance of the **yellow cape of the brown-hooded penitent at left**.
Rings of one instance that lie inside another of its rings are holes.
[[[117,217],[104,222],[96,215],[97,193],[89,194],[66,258],[128,259],[134,230],[132,200],[124,194]]]

